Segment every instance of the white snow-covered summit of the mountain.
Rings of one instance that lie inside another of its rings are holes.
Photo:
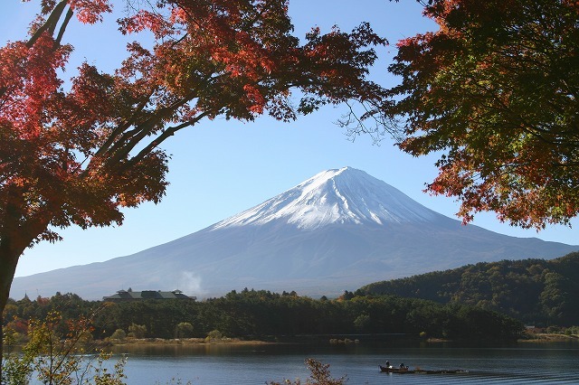
[[[363,171],[343,167],[323,171],[249,210],[214,225],[262,225],[285,221],[313,230],[334,223],[433,221],[440,214]]]

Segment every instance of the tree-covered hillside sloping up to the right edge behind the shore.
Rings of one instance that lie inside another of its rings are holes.
[[[356,295],[396,295],[476,305],[539,326],[579,324],[579,252],[502,260],[377,282]]]

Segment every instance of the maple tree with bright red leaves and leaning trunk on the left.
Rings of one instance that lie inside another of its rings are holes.
[[[354,129],[380,123],[385,91],[366,75],[386,42],[367,23],[312,29],[302,43],[287,1],[159,0],[119,19],[121,33],[154,36],[150,46],[128,44],[113,73],[84,62],[64,83],[67,26],[75,15],[100,22],[112,0],[41,5],[27,40],[0,49],[0,313],[24,249],[73,224],[120,224],[123,207],[164,196],[159,146],[177,131],[218,116],[290,121],[345,102]]]

